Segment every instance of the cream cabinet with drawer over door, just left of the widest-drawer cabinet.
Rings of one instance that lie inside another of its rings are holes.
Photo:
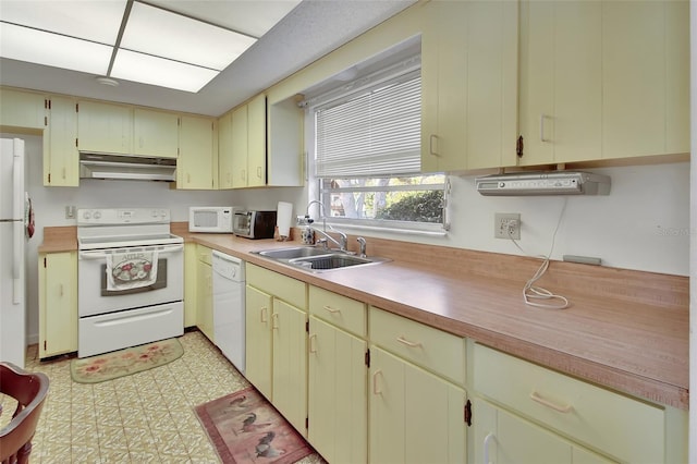
[[[466,462],[464,340],[375,307],[368,321],[368,461]]]

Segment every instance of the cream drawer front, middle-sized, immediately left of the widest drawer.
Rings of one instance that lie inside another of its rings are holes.
[[[465,381],[462,338],[370,306],[370,341],[458,386]]]

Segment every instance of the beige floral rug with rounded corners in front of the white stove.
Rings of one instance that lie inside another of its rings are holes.
[[[183,354],[184,349],[179,340],[168,339],[98,356],[73,359],[70,363],[70,373],[75,382],[98,383],[163,366],[179,359]]]

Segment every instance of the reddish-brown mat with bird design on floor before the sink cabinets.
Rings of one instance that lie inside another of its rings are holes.
[[[195,411],[224,464],[286,464],[314,452],[254,387],[198,405]]]

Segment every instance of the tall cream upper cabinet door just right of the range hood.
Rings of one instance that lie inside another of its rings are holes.
[[[209,118],[181,118],[176,188],[213,187],[213,121]]]

